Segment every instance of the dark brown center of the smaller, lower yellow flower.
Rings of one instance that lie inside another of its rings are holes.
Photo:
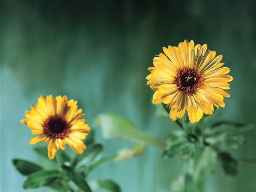
[[[44,132],[46,135],[57,139],[63,139],[69,130],[69,125],[63,117],[52,116],[49,117],[44,124]]]

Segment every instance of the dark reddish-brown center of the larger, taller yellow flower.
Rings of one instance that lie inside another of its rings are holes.
[[[194,69],[185,68],[178,71],[174,83],[182,93],[193,93],[202,84],[201,75]]]

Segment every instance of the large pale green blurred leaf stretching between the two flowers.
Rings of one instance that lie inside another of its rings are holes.
[[[145,145],[165,147],[165,144],[159,138],[140,131],[131,121],[116,114],[100,114],[95,118],[94,125],[102,128],[103,137],[106,139],[121,138]]]

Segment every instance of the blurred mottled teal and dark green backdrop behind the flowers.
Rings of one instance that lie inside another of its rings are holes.
[[[224,99],[219,119],[255,123],[255,7],[256,1],[1,0],[0,190],[25,191],[25,177],[12,158],[52,166],[35,154],[30,129],[20,123],[41,94],[77,100],[89,125],[97,114],[112,112],[160,138],[177,129],[169,118],[156,117],[154,92],[145,77],[163,46],[177,46],[184,39],[207,43],[231,70],[231,98]],[[255,160],[256,131],[243,135],[247,145],[229,151]],[[103,143],[104,155],[131,146],[103,139],[100,129],[96,140]],[[110,178],[123,191],[169,191],[181,169],[180,159],[162,159],[161,150],[147,147],[139,157],[102,164],[89,180]],[[252,192],[255,180],[255,165],[240,162],[236,177],[226,176],[218,165],[207,191]]]

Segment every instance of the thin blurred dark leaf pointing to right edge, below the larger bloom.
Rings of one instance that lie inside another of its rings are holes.
[[[215,124],[213,124],[212,129],[233,129],[236,131],[251,131],[252,129],[255,129],[255,125],[244,125],[241,123],[234,123],[230,121],[220,121]]]

